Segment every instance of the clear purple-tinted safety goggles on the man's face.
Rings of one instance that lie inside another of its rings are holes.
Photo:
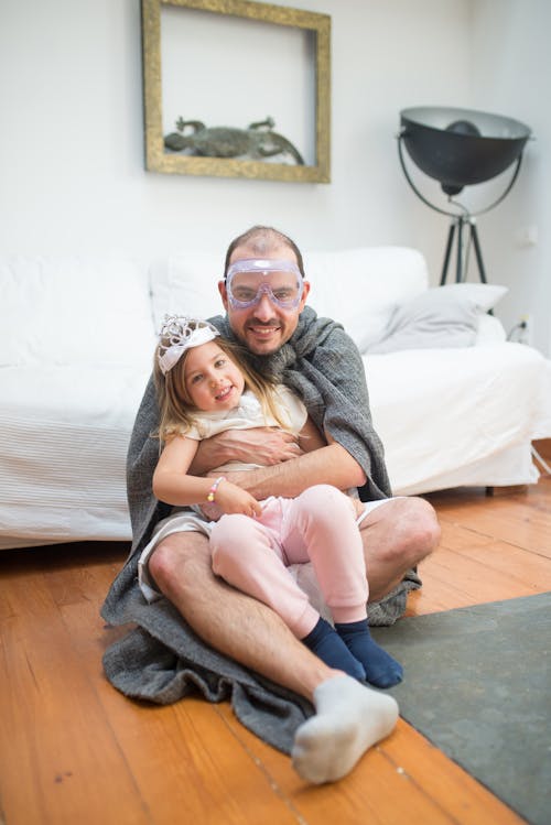
[[[296,263],[251,258],[233,263],[226,274],[228,301],[234,310],[256,306],[268,295],[282,310],[295,310],[301,303],[303,279]]]

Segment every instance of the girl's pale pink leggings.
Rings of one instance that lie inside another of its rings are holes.
[[[364,547],[352,500],[316,485],[294,499],[270,498],[258,518],[226,514],[210,534],[213,569],[269,605],[303,639],[320,614],[287,567],[312,562],[320,589],[337,622],[366,618]]]

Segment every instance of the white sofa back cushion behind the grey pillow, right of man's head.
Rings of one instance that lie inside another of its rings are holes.
[[[397,306],[429,285],[423,256],[407,247],[306,252],[304,268],[310,306],[341,322],[361,352],[381,337]]]

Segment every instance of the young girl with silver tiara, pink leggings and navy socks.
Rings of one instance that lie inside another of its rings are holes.
[[[228,428],[281,426],[298,436],[303,452],[324,445],[303,403],[255,372],[235,345],[196,318],[166,317],[154,373],[164,447],[153,492],[176,512],[192,507],[203,515],[201,506],[209,502],[213,518],[216,504],[222,514],[209,524],[213,571],[269,605],[329,666],[378,687],[400,682],[401,665],[369,634],[359,501],[329,485],[316,485],[294,499],[259,502],[224,475],[213,480],[187,474],[199,442]],[[231,463],[218,471],[242,468]],[[142,554],[142,574],[151,550]],[[312,562],[334,628],[287,569],[306,562]]]

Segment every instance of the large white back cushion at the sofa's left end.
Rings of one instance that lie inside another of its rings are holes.
[[[0,366],[141,366],[155,344],[147,272],[129,260],[0,260]]]

